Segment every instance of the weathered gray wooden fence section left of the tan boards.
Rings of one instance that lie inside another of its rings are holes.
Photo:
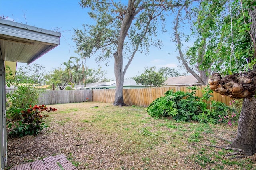
[[[39,95],[39,105],[92,101],[92,90],[47,90]]]

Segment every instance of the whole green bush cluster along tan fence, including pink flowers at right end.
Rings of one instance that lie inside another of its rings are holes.
[[[195,90],[198,87],[188,87],[191,92],[173,90],[166,91],[164,97],[154,100],[146,109],[148,114],[155,119],[160,117],[170,116],[176,121],[186,122],[190,120],[198,122],[228,123],[224,122],[221,117],[227,117],[230,121],[230,113],[236,113],[238,119],[239,113],[234,108],[227,106],[219,101],[211,101],[210,109],[205,100],[210,100],[212,95],[209,95],[208,89],[205,89],[208,95],[203,97],[196,96]],[[232,117],[233,118],[233,117]],[[234,120],[233,120],[234,121]]]

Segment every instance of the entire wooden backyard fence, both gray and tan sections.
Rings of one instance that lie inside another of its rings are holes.
[[[196,95],[202,96],[202,90],[205,86],[198,86]],[[158,97],[164,96],[168,90],[174,91],[190,91],[186,86],[175,87],[155,87],[142,89],[123,89],[124,103],[128,105],[147,107],[152,101]],[[87,99],[88,98],[88,99]],[[115,99],[115,89],[101,89],[101,90],[56,90],[46,91],[39,97],[39,104],[58,104],[58,103],[78,103],[84,101],[95,101],[102,103],[113,103]],[[222,97],[218,93],[213,93],[211,100],[221,101],[228,105],[230,97]]]

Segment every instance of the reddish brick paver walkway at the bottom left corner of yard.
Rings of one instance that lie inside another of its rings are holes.
[[[49,156],[10,168],[10,170],[77,170],[64,154]]]

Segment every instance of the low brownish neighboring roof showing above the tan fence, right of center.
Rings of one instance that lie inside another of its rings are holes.
[[[166,81],[166,86],[191,86],[202,85],[193,75],[169,77]]]

